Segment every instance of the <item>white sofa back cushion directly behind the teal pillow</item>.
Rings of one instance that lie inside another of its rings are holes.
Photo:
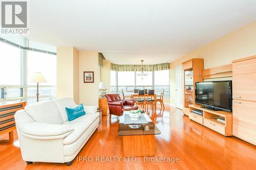
[[[52,100],[58,107],[61,117],[63,119],[63,122],[68,121],[68,116],[66,112],[66,107],[68,108],[74,108],[77,105],[75,104],[74,100],[72,98],[59,98]]]

